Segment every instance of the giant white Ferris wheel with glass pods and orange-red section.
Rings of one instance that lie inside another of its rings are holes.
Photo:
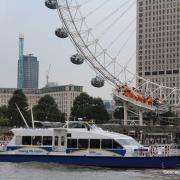
[[[180,103],[179,89],[136,74],[136,0],[46,0],[45,5],[61,20],[56,36],[69,38],[76,48],[71,62],[86,62],[94,70],[94,87],[109,83],[116,98],[140,109],[166,107],[170,96]]]

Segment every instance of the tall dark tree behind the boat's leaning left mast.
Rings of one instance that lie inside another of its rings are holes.
[[[24,122],[19,111],[17,110],[16,104],[27,122],[29,122],[30,116],[28,112],[27,98],[22,89],[14,91],[12,98],[8,102],[8,118],[10,119],[11,125],[15,125],[17,127],[24,126]]]

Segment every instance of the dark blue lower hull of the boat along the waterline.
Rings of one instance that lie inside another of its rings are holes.
[[[82,166],[116,168],[176,168],[178,158],[173,157],[89,157],[52,155],[0,155],[0,162],[46,162]]]

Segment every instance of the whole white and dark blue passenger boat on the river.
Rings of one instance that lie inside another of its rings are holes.
[[[0,162],[46,162],[115,168],[176,168],[179,155],[155,152],[130,136],[94,123],[68,121],[60,128],[14,128],[1,145]]]

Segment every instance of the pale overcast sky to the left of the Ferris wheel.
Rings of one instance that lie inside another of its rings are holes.
[[[112,8],[115,8],[116,4],[119,3],[119,0],[111,1],[114,2],[110,5]],[[75,48],[69,39],[58,39],[54,35],[54,30],[61,27],[57,11],[46,8],[44,0],[0,0],[0,2],[1,88],[17,87],[18,37],[20,33],[23,33],[25,54],[34,54],[40,63],[40,88],[45,86],[46,73],[49,64],[51,64],[50,82],[57,82],[59,85],[82,85],[84,91],[91,96],[112,99],[112,87],[107,83],[105,87],[100,89],[91,86],[91,78],[95,77],[96,74],[86,63],[76,66],[70,62],[71,55],[76,53]],[[93,3],[93,7],[97,6],[96,1]],[[87,4],[86,8],[87,10],[89,8],[90,11],[92,7],[88,7]],[[129,16],[135,16],[134,12],[133,10]],[[105,16],[106,9],[104,12],[101,9],[100,13]],[[92,19],[92,21],[94,22],[96,19]],[[135,66],[135,61],[133,66]]]

